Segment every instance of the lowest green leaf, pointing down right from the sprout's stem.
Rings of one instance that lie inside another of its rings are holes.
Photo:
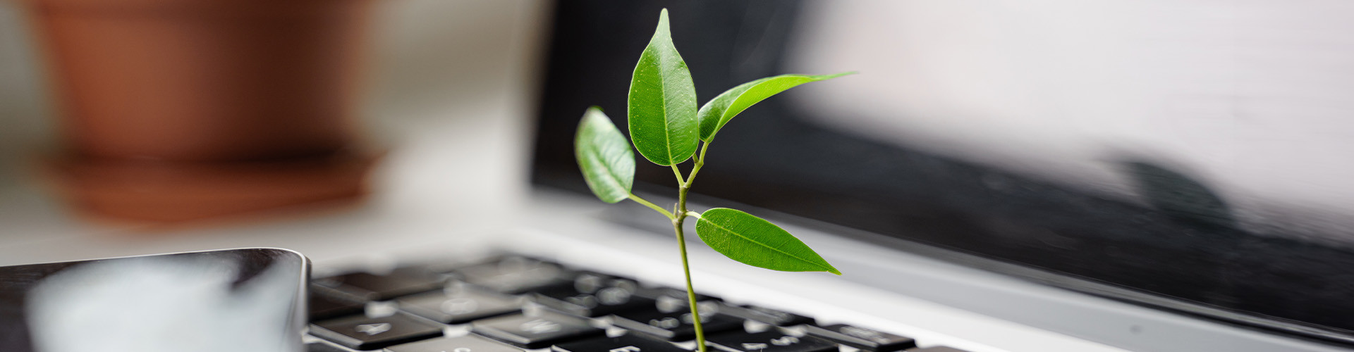
[[[842,275],[822,256],[780,226],[751,214],[716,207],[696,221],[696,234],[709,248],[743,264],[773,271],[826,271]]]

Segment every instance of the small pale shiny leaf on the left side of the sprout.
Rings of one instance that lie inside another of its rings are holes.
[[[616,203],[630,196],[635,183],[635,152],[601,108],[589,107],[574,134],[574,156],[588,188],[601,202]]]

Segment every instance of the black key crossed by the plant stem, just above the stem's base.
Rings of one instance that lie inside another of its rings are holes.
[[[705,330],[705,334],[743,328],[742,320],[718,314],[711,305],[701,305],[700,311],[700,325]],[[692,324],[693,320],[688,306],[680,306],[672,311],[658,309],[630,310],[616,313],[612,318],[612,324],[616,326],[657,336],[668,341],[696,338],[696,325]]]

